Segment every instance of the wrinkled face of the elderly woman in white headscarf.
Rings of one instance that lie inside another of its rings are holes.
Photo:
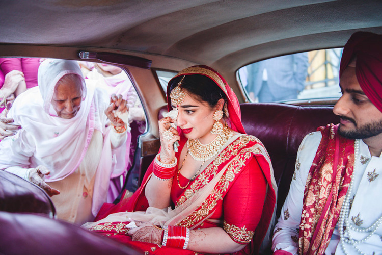
[[[79,79],[60,80],[56,85],[51,104],[60,118],[71,119],[78,113],[82,101],[81,88]]]

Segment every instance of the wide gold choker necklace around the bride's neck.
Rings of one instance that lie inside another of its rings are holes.
[[[189,154],[193,159],[198,161],[206,162],[209,159],[215,157],[223,145],[233,136],[233,133],[228,128],[228,125],[225,124],[222,133],[216,136],[208,144],[202,144],[199,139],[188,139],[187,147],[189,149]]]

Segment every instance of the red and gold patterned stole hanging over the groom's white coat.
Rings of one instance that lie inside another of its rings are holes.
[[[354,166],[354,140],[338,125],[319,127],[322,139],[309,170],[299,226],[299,254],[324,254],[339,218]]]

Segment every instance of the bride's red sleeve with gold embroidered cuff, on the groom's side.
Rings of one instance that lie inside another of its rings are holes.
[[[224,230],[237,243],[251,241],[260,221],[266,195],[264,174],[253,157],[223,200]]]

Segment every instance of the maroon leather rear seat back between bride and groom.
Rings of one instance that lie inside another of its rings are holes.
[[[283,103],[241,104],[247,134],[259,138],[268,150],[278,186],[277,217],[288,195],[299,144],[305,135],[328,123],[338,123],[332,106]]]

